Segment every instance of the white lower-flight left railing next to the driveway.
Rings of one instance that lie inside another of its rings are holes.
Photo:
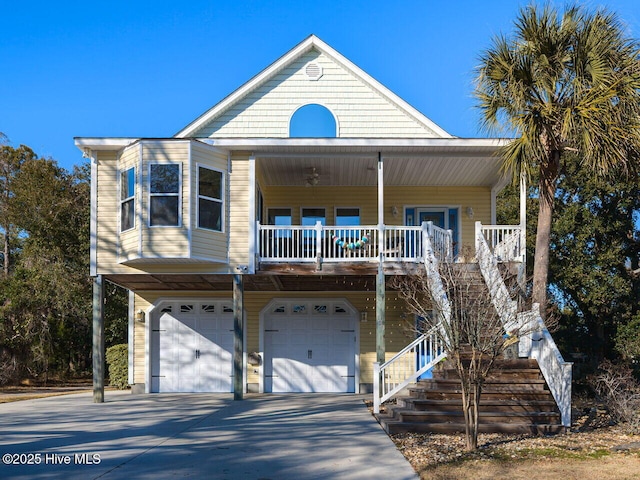
[[[380,413],[380,405],[414,382],[423,373],[446,357],[437,327],[420,335],[393,358],[373,364],[373,412]]]

